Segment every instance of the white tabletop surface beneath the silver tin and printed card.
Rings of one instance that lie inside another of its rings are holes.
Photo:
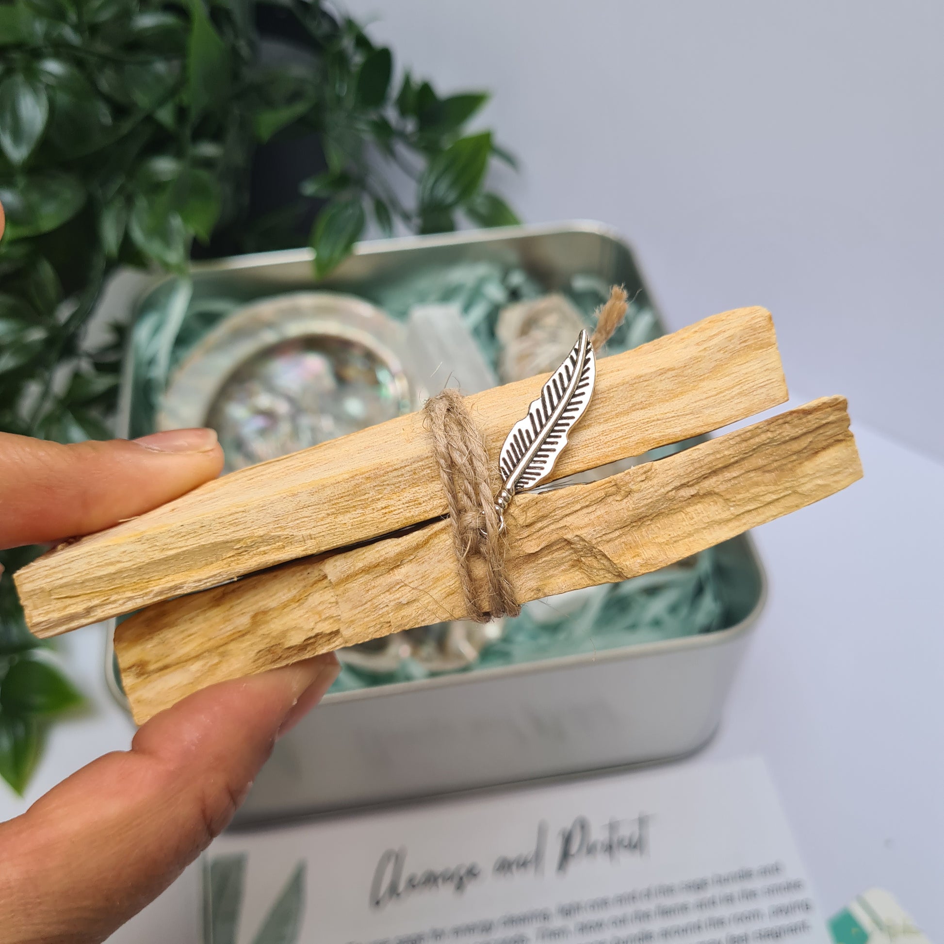
[[[944,466],[854,431],[866,478],[753,532],[767,610],[721,729],[684,763],[763,755],[824,912],[880,885],[944,942]],[[102,646],[96,627],[63,638],[92,707],[54,730],[25,799],[0,784],[0,819],[126,749],[132,727],[105,690]],[[112,940],[195,941],[194,878]]]

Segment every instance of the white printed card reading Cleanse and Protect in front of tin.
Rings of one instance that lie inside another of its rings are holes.
[[[206,861],[214,944],[829,941],[755,758],[225,834]]]

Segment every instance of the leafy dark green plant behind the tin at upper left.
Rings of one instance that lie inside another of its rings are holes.
[[[323,276],[370,221],[517,222],[484,189],[511,157],[465,132],[486,100],[395,78],[391,50],[319,0],[0,3],[0,430],[110,436],[121,332],[92,347],[86,328],[120,264],[183,272],[194,250],[299,244],[311,224]],[[254,167],[286,142],[317,173],[260,211]],[[0,777],[17,790],[44,719],[76,702],[10,581],[36,552],[0,552]]]

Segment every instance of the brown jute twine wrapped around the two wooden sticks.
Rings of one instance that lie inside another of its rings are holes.
[[[625,290],[614,286],[597,313],[597,328],[590,339],[595,352],[610,340],[626,308]],[[425,410],[446,492],[468,618],[487,623],[500,616],[516,616],[521,604],[505,567],[505,531],[495,507],[500,482],[497,469],[489,464],[485,438],[458,390],[447,388],[430,396]]]

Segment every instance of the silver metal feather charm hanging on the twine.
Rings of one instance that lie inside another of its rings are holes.
[[[498,454],[502,488],[495,505],[504,512],[515,492],[527,492],[550,475],[567,445],[567,433],[581,418],[593,395],[597,359],[583,329],[564,363],[531,401],[528,415],[512,427]]]

